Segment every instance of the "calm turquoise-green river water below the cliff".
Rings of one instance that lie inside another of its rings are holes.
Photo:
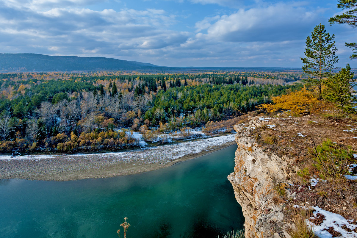
[[[0,180],[0,237],[114,238],[124,217],[128,238],[211,238],[241,229],[227,180],[236,148],[129,176]]]

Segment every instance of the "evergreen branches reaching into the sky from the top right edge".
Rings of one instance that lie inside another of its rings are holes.
[[[336,15],[334,17],[330,17],[328,22],[330,25],[337,24],[348,24],[353,28],[357,27],[357,0],[338,0],[337,8],[339,9],[349,9],[345,13],[341,15]],[[357,43],[345,43],[347,47],[352,48],[353,53],[357,53]],[[357,58],[357,54],[350,55],[350,59]]]

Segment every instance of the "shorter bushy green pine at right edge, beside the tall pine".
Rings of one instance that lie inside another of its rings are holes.
[[[335,103],[347,113],[356,111],[353,108],[356,104],[356,96],[352,95],[355,86],[353,75],[350,65],[347,64],[346,68],[342,68],[340,72],[325,81],[326,90],[323,91],[327,101]]]

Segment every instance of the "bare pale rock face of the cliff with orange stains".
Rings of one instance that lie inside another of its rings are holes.
[[[236,125],[234,172],[228,176],[233,185],[235,197],[242,206],[245,217],[245,237],[287,237],[284,230],[282,205],[273,201],[276,197],[275,186],[286,181],[288,173],[287,158],[274,153],[267,154],[258,146],[251,132],[265,122],[254,117],[249,125]]]

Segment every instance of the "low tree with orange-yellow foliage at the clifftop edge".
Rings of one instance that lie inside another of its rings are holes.
[[[273,97],[272,101],[273,104],[261,104],[258,108],[265,109],[267,112],[291,110],[293,115],[298,116],[310,112],[310,106],[318,99],[313,92],[307,91],[304,87],[300,91],[291,92],[288,95]]]

